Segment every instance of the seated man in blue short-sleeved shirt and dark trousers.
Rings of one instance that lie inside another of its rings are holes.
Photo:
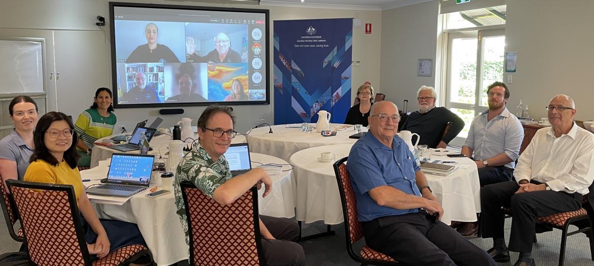
[[[443,208],[406,143],[394,103],[371,106],[369,132],[350,149],[350,180],[366,244],[405,265],[496,265],[440,221]]]

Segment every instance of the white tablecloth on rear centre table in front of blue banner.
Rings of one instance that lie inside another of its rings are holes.
[[[330,128],[343,124],[331,124]],[[278,135],[267,135],[270,130],[268,126],[252,129],[248,135],[249,150],[255,153],[268,154],[289,162],[293,153],[306,148],[318,147],[331,144],[354,144],[356,139],[349,138],[355,134],[355,127],[351,126],[343,131],[337,131],[336,136],[323,137],[313,129],[311,134],[301,132],[301,128],[285,128],[285,125],[273,125],[274,133],[285,132],[283,137]],[[366,130],[366,128],[364,129]]]

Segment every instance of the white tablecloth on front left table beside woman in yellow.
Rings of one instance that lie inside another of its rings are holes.
[[[286,164],[287,162],[265,154],[250,153],[252,162]],[[96,183],[105,178],[109,167],[102,163],[99,167],[81,171],[81,178],[91,179],[84,185]],[[258,163],[252,163],[257,167]],[[262,198],[264,189],[258,191],[259,213],[266,216],[286,217],[295,216],[295,196],[293,188],[295,181],[291,178],[290,166],[283,166],[280,176],[273,176],[273,189],[271,193]],[[172,191],[173,178],[163,178],[163,188]],[[152,187],[153,185],[151,185]],[[179,217],[175,213],[175,198],[173,191],[157,198],[144,197],[149,191],[141,192],[130,198],[124,205],[94,204],[100,218],[129,221],[138,224],[147,246],[153,253],[157,265],[171,265],[175,262],[188,259],[188,245],[185,243],[184,230],[182,230]],[[92,195],[89,195],[92,198]],[[92,199],[91,199],[92,201]]]

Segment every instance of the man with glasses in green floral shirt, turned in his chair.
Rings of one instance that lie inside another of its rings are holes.
[[[192,148],[191,153],[184,157],[175,170],[173,191],[186,243],[189,243],[188,220],[180,182],[194,183],[200,191],[222,205],[232,204],[254,185],[258,189],[264,185],[263,197],[272,189],[270,177],[260,168],[243,175],[231,176],[229,163],[223,154],[237,134],[233,131],[234,126],[235,116],[230,107],[208,106],[198,119],[200,143]],[[299,236],[299,226],[294,221],[260,216],[260,233],[267,265],[305,265],[302,246],[293,242]]]

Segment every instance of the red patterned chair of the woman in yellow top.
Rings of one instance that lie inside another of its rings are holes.
[[[144,245],[124,246],[91,262],[71,185],[16,180],[7,181],[7,185],[21,217],[29,257],[34,264],[127,265],[142,256],[148,256],[153,262],[153,255]]]

